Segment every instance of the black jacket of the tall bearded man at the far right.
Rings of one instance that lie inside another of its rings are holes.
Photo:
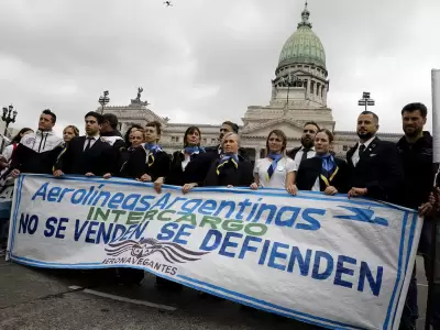
[[[397,142],[397,151],[405,173],[402,205],[417,209],[428,201],[433,188],[432,136],[424,132],[424,136],[415,143],[408,143],[403,136]]]

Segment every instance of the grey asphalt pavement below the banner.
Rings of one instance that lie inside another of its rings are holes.
[[[427,286],[422,260],[417,262],[421,316],[417,329],[424,329]],[[204,298],[190,288],[163,292],[150,274],[133,287],[105,278],[96,272],[34,268],[2,260],[0,329],[319,329],[229,300]]]

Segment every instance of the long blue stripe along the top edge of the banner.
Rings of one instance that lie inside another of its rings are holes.
[[[45,175],[45,174],[26,174],[26,176],[45,177],[45,178],[51,178],[51,179],[55,178],[52,175]],[[108,184],[109,183],[108,179],[103,179],[103,178],[97,179],[97,178],[90,178],[90,177],[78,176],[78,175],[63,176],[62,178],[58,178],[58,179],[59,180],[82,182],[82,183],[97,183],[97,184]],[[110,184],[153,188],[153,184],[151,184],[151,183],[140,183],[140,182],[134,182],[134,180],[124,179],[124,178],[113,179],[110,182]],[[177,186],[163,185],[163,187],[167,188],[167,189],[173,189],[173,190],[182,190],[182,187],[177,187]],[[280,191],[280,193],[273,194],[273,193],[263,191],[263,190]],[[230,193],[230,194],[246,194],[246,195],[256,195],[256,196],[300,198],[300,199],[311,199],[311,200],[342,201],[342,202],[348,202],[348,204],[353,204],[353,205],[373,206],[373,207],[377,207],[377,208],[409,210],[409,209],[406,209],[406,208],[403,208],[399,206],[395,206],[395,205],[391,205],[391,204],[376,204],[374,200],[365,200],[365,199],[355,200],[355,199],[348,199],[348,198],[327,197],[327,196],[323,196],[322,193],[319,193],[319,191],[301,191],[301,194],[297,195],[297,196],[292,196],[287,193],[282,193],[282,191],[284,191],[284,189],[261,189],[261,190],[255,191],[255,190],[252,190],[252,189],[245,188],[245,187],[237,187],[235,189],[230,189],[230,188],[224,188],[224,187],[195,188],[195,191],[200,191],[200,193],[216,191],[216,193]],[[312,196],[306,196],[306,195],[316,195],[319,197],[312,197]],[[343,196],[343,195],[339,195],[339,196]]]

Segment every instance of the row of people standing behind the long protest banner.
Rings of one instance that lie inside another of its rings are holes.
[[[53,131],[55,113],[44,110],[37,130],[22,129],[6,147],[0,165],[4,167],[3,177],[20,173],[124,177],[153,183],[157,194],[164,184],[180,186],[183,194],[200,186],[279,188],[290,195],[310,190],[397,204],[417,209],[426,219],[419,250],[429,274],[431,227],[438,219],[440,200],[435,189],[432,136],[424,131],[427,113],[422,103],[405,106],[400,113],[404,135],[395,144],[376,136],[378,117],[363,111],[356,122],[359,142],[346,153],[346,160],[332,152],[333,133],[316,122],[304,125],[301,145],[289,151],[286,134],[273,130],[267,135],[265,157],[253,165],[240,147],[239,125],[231,121],[222,123],[219,145],[211,147],[200,145],[202,132],[198,127],[189,127],[182,150],[169,155],[160,145],[160,122],[133,125],[122,136],[114,114],[91,111],[85,116],[85,135],[79,136],[79,130],[68,125],[61,139]],[[124,272],[136,282],[142,279],[139,271]],[[164,279],[157,279],[157,284],[178,287]],[[439,300],[436,297],[433,302],[435,329],[440,329]],[[400,328],[415,329],[417,318],[414,273]]]

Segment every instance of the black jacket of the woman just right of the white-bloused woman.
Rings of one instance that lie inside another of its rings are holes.
[[[348,178],[349,178],[349,168],[345,161],[340,158],[334,158],[334,163],[337,165],[338,172],[334,175],[333,179],[330,182],[330,186],[333,186],[338,189],[338,193],[344,194],[348,193]],[[311,190],[315,185],[315,182],[321,175],[322,168],[322,158],[312,157],[301,162],[297,173],[296,186],[299,190]],[[322,179],[319,179],[321,191],[324,190],[326,185]]]

